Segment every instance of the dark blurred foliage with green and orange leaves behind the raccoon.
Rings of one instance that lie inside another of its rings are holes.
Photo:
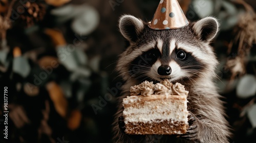
[[[179,0],[190,21],[217,17],[216,84],[233,128],[230,142],[255,141],[256,2]],[[0,0],[0,82],[8,87],[8,139],[111,142],[125,43],[118,18],[150,21],[156,0]],[[210,60],[210,59],[209,59]],[[4,134],[4,101],[0,129]]]

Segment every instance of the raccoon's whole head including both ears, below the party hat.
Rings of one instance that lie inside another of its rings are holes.
[[[124,80],[195,82],[215,75],[218,62],[209,45],[218,32],[215,18],[174,30],[152,30],[147,24],[131,15],[120,18],[120,32],[130,43],[117,64]]]

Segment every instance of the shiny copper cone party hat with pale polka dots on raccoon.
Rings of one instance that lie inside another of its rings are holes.
[[[161,0],[148,27],[154,30],[178,29],[188,25],[188,20],[177,0]]]

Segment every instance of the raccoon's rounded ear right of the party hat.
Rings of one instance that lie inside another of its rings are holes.
[[[210,42],[219,30],[219,22],[216,18],[206,17],[195,22],[193,29],[201,40]]]

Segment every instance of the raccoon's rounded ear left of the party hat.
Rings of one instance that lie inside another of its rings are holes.
[[[119,30],[130,42],[135,42],[143,29],[143,21],[132,15],[123,15],[119,20]]]

